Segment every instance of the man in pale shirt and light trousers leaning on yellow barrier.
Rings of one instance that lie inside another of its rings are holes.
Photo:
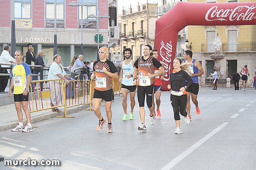
[[[50,69],[48,72],[48,79],[62,79],[66,84],[69,84],[69,80],[74,82],[74,79],[70,78],[66,71],[64,70],[62,64],[61,64],[61,56],[56,54],[53,57],[53,63],[50,65]],[[63,84],[64,84],[63,82]],[[52,102],[51,102],[51,107],[58,106],[62,102],[60,101],[61,99],[63,100],[63,91],[62,91],[62,85],[60,81],[48,81],[48,87],[52,93],[51,96]],[[52,111],[58,111],[61,112],[58,107],[52,108]]]

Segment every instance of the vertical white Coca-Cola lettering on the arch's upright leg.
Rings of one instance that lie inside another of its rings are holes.
[[[170,69],[171,69],[171,61],[172,61],[172,41],[170,43],[164,44],[164,41],[161,39],[161,48],[160,48],[160,56],[162,57],[164,63],[164,80],[170,80]]]

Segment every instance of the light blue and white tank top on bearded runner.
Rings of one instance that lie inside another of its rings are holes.
[[[123,62],[122,68],[123,68],[122,84],[126,86],[134,86],[133,77],[131,78],[126,77],[126,75],[133,74],[134,67],[132,66],[132,60],[127,65]]]

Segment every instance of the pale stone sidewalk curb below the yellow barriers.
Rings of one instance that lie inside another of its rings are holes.
[[[84,105],[81,105],[81,106],[73,106],[73,107],[69,107],[67,108],[67,115],[68,114],[72,114],[72,113],[76,113],[78,111],[82,111],[83,109],[86,109],[87,107],[89,107],[90,109],[90,104],[84,104]],[[33,123],[36,123],[36,122],[39,122],[39,121],[43,121],[43,120],[48,120],[52,117],[56,117],[56,116],[64,116],[64,109],[61,109],[62,112],[53,112],[51,111],[51,109],[49,109],[49,113],[45,113],[43,115],[38,115],[38,116],[35,116],[35,117],[31,117],[31,123],[32,123],[32,126],[33,126]],[[17,117],[18,119],[18,117]],[[23,123],[26,125],[27,124],[27,121],[26,120],[23,120]],[[12,121],[10,123],[6,123],[4,125],[0,125],[0,131],[5,131],[5,130],[8,130],[8,129],[12,129],[14,127],[16,127],[18,124],[18,120],[17,121]]]

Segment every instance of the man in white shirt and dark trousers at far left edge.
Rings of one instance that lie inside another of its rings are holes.
[[[2,52],[1,56],[0,56],[0,63],[2,64],[16,64],[15,59],[10,55],[10,46],[9,45],[5,45],[4,46],[4,51]],[[1,65],[0,65],[1,66]],[[2,67],[10,67],[9,65],[2,65]],[[0,73],[3,74],[7,74],[10,73],[10,69],[5,69],[5,68],[1,68],[0,69]],[[0,92],[4,92],[7,84],[8,84],[8,80],[9,80],[9,76],[0,76]]]

